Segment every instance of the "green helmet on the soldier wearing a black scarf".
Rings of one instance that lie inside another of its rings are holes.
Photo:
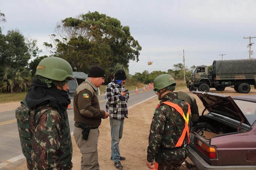
[[[71,65],[66,60],[58,57],[47,57],[42,59],[36,67],[35,75],[56,81],[74,79]]]

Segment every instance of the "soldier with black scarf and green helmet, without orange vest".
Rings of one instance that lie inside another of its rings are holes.
[[[72,67],[64,59],[44,58],[26,98],[16,109],[21,148],[29,170],[71,170],[72,143],[66,109]]]

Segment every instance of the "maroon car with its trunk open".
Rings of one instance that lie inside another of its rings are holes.
[[[205,109],[190,132],[190,160],[200,170],[256,170],[256,95],[193,93]]]

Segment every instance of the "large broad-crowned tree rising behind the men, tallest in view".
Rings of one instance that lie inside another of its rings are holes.
[[[131,36],[130,28],[105,14],[95,11],[66,18],[55,33],[51,35],[53,43],[44,45],[55,48],[53,54],[66,59],[77,71],[88,72],[92,65],[101,65],[113,72],[117,64],[128,69],[130,60],[139,61],[142,47]]]

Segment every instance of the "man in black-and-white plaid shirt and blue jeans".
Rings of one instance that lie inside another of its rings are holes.
[[[111,127],[111,160],[114,161],[116,169],[123,169],[120,160],[119,142],[123,135],[124,118],[128,118],[127,102],[129,92],[125,89],[125,71],[120,69],[115,73],[114,80],[109,83],[105,90],[106,111],[110,113]]]

